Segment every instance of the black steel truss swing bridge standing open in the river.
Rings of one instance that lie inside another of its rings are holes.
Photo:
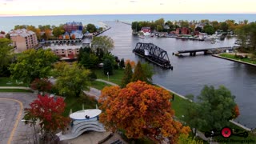
[[[173,70],[173,66],[170,65],[170,60],[166,50],[162,50],[153,43],[138,42],[133,52],[134,54],[137,54],[142,58],[146,58],[146,60],[153,62],[162,68]]]

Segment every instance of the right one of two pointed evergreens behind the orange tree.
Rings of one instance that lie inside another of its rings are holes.
[[[142,69],[141,62],[138,61],[137,65],[135,66],[133,77],[131,78],[131,82],[137,82],[138,80],[142,82],[146,82],[146,75]]]

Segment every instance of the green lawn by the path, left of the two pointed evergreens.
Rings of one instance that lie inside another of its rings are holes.
[[[104,79],[106,81],[108,80],[107,75],[103,74],[103,69],[96,69],[92,71],[94,71],[98,79]],[[110,75],[110,82],[114,82],[118,85],[121,85],[123,72],[124,70],[121,70],[121,69],[114,70],[114,74]]]

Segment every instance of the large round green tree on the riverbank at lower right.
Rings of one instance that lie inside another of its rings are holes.
[[[234,95],[225,86],[219,86],[217,90],[214,86],[205,86],[198,96],[201,118],[205,121],[202,126],[206,130],[221,129],[228,126],[233,110],[236,106]]]

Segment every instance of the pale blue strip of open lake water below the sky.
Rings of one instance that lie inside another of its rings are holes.
[[[154,21],[159,18],[164,18],[166,21],[200,21],[209,19],[210,21],[217,20],[224,22],[226,19],[233,19],[235,22],[248,20],[249,22],[256,21],[256,14],[96,14],[96,15],[62,15],[62,16],[19,16],[19,17],[0,17],[0,30],[6,32],[14,29],[16,25],[54,25],[59,26],[66,22],[82,22],[83,25],[94,23],[100,26],[100,21],[115,21],[124,22],[134,21]]]

